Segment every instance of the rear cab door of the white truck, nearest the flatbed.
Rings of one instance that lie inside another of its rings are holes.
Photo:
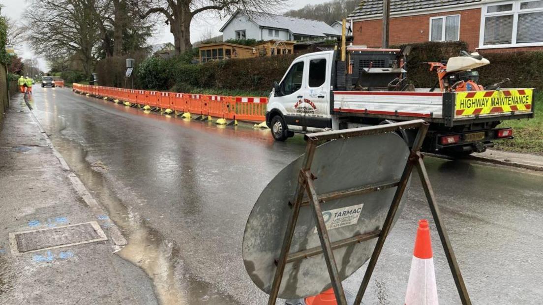
[[[298,109],[304,112],[304,126],[331,128],[330,119],[330,73],[332,62],[328,54],[309,55],[304,73],[304,97]]]

